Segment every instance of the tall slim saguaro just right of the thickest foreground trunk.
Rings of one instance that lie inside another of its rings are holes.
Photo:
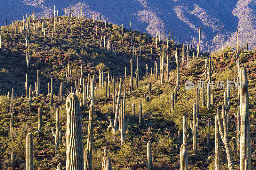
[[[89,111],[89,122],[88,122],[88,137],[87,137],[87,148],[90,153],[90,167],[92,167],[92,142],[93,142],[93,106],[90,106]]]

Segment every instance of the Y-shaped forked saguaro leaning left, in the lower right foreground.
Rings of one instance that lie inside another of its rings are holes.
[[[220,111],[219,109],[217,110],[217,118],[218,118],[218,124],[219,124],[219,133],[220,137],[222,139],[222,142],[225,145],[226,153],[227,153],[227,158],[228,158],[228,169],[229,170],[234,170],[234,163],[233,163],[233,158],[231,155],[231,149],[229,146],[228,142],[228,127],[227,127],[227,118],[226,118],[226,108],[225,105],[222,105],[222,120],[223,120],[223,128],[220,122]]]

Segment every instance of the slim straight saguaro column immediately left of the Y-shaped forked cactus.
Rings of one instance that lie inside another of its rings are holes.
[[[220,170],[220,133],[217,115],[215,115],[215,170]]]

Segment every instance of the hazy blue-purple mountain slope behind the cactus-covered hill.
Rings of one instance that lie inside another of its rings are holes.
[[[150,33],[164,30],[165,38],[174,34],[175,43],[198,43],[199,26],[202,30],[202,49],[212,50],[223,45],[235,46],[236,29],[241,45],[248,42],[249,49],[256,45],[256,0],[2,0],[0,2],[0,24],[11,24],[23,15],[49,16],[54,11],[67,14],[71,7],[74,16],[83,11],[85,18],[101,19],[109,23],[123,24],[132,29]],[[162,32],[161,32],[162,34]],[[162,35],[161,35],[162,36]]]

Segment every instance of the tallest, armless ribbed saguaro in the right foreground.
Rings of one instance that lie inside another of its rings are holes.
[[[241,116],[241,138],[240,138],[240,170],[251,170],[251,134],[250,134],[250,112],[248,74],[245,67],[239,71],[240,90],[240,116]]]

